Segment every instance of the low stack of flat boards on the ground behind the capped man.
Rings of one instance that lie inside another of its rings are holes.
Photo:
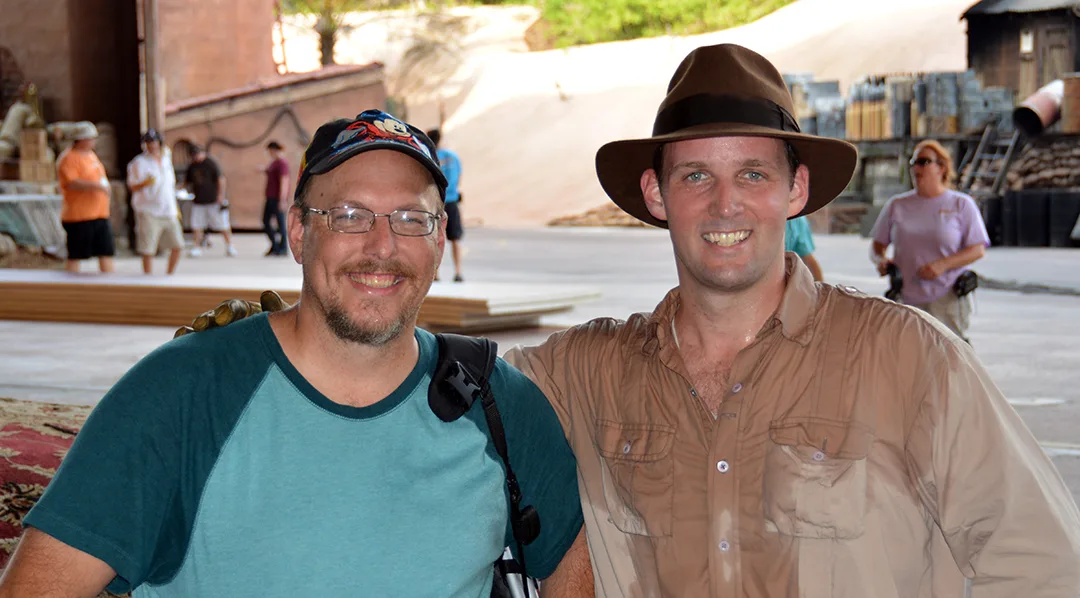
[[[226,299],[258,302],[273,289],[295,303],[300,278],[276,276],[116,276],[67,272],[0,272],[0,320],[184,326]],[[494,330],[539,325],[540,317],[599,297],[564,285],[434,283],[420,322],[438,330]]]

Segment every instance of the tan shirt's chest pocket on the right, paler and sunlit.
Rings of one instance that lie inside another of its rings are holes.
[[[765,458],[767,529],[797,538],[862,535],[873,443],[869,432],[848,423],[774,423]]]

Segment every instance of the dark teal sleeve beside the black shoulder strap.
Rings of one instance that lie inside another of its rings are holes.
[[[555,571],[583,525],[577,461],[555,411],[525,375],[500,358],[491,388],[507,431],[510,464],[522,487],[522,504],[540,514],[540,536],[525,546],[525,565],[529,575],[542,580]],[[507,545],[516,554],[509,526]]]

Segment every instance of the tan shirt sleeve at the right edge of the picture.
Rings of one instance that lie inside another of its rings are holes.
[[[1080,512],[1061,475],[970,346],[929,353],[907,454],[972,597],[1080,596]]]

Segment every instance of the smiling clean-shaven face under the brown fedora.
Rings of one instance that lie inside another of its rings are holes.
[[[679,287],[739,293],[783,282],[784,223],[806,205],[809,171],[783,141],[708,137],[669,144],[663,176],[642,175],[649,212],[667,220]]]

